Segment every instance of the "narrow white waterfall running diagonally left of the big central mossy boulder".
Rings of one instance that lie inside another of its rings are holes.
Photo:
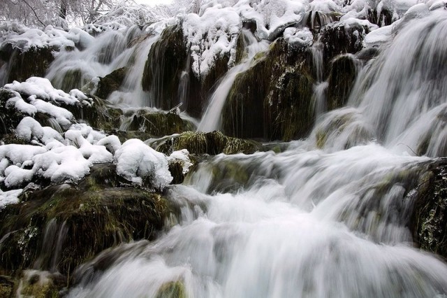
[[[230,69],[230,71],[228,71],[228,73],[226,73],[226,75],[218,83],[216,90],[212,93],[210,99],[208,100],[209,104],[205,110],[205,113],[203,113],[202,120],[200,120],[198,125],[197,130],[199,132],[212,132],[220,129],[221,111],[237,74],[249,69],[251,59],[255,57],[258,52],[262,52],[268,47],[267,41],[257,41],[256,37],[251,34],[249,30],[242,30],[242,34],[247,57],[244,59],[244,62]]]

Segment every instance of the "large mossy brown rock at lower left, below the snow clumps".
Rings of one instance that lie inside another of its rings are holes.
[[[21,204],[0,210],[0,271],[36,267],[71,274],[105,248],[154,239],[170,213],[168,201],[124,186],[115,166],[103,164],[78,185],[24,192]]]

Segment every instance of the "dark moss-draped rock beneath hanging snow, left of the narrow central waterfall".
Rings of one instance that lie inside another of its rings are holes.
[[[216,57],[207,76],[198,78],[191,68],[182,27],[166,28],[149,52],[142,88],[151,93],[152,106],[170,110],[182,102],[182,110],[199,117],[214,84],[228,71],[229,57]]]

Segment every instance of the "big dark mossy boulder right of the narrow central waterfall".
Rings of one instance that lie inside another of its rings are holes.
[[[299,139],[314,124],[314,78],[308,48],[279,38],[235,78],[223,107],[223,132],[239,138]]]

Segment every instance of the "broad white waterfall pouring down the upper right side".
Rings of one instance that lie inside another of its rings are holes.
[[[430,17],[400,27],[393,43],[381,48],[379,57],[360,71],[348,106],[357,110],[358,127],[367,127],[371,139],[384,146],[441,156],[447,142],[442,129],[447,102],[447,15],[434,11]],[[339,111],[328,113],[313,134],[321,131],[324,121],[337,118]],[[355,143],[364,143],[364,138]],[[328,143],[328,148],[332,145]]]

